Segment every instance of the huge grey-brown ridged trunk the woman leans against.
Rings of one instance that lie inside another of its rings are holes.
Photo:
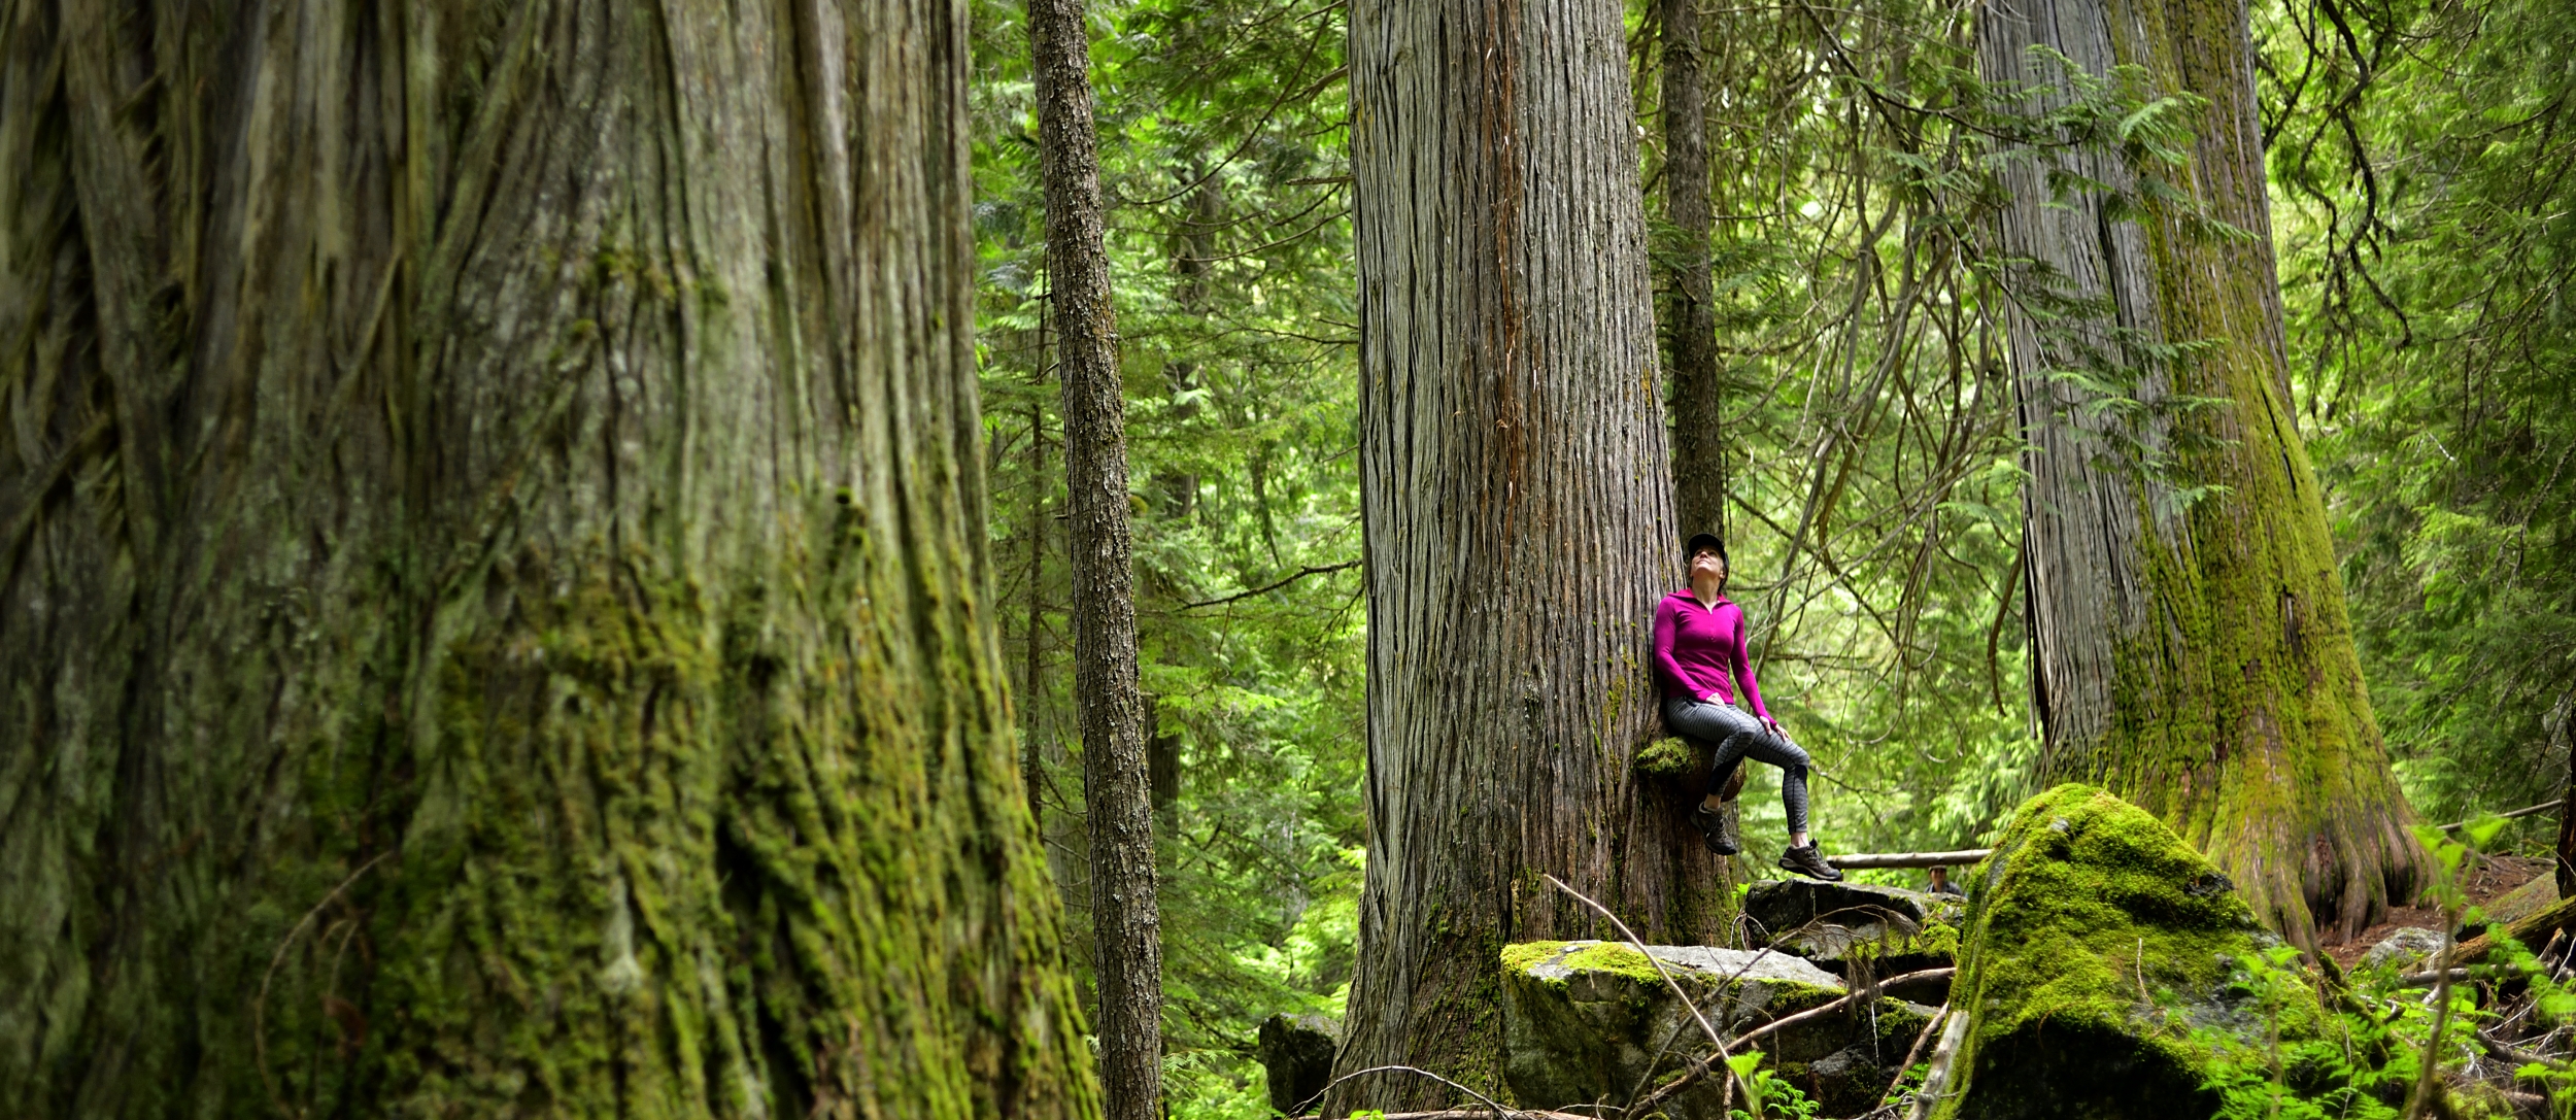
[[[1497,1087],[1497,953],[1600,929],[1543,873],[1718,935],[1716,857],[1628,780],[1680,543],[1620,8],[1368,0],[1350,28],[1370,842],[1340,1066]]]

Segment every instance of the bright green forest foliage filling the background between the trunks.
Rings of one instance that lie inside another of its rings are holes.
[[[1651,219],[1669,206],[1659,72],[1682,49],[1659,10],[1628,18]],[[1978,247],[2017,121],[1976,77],[1968,3],[1698,15],[1728,448],[1710,528],[1765,695],[1816,757],[1829,847],[1978,845],[2035,790],[2040,752],[2014,294]],[[974,36],[999,626],[1023,772],[1087,929],[1025,8],[979,3]],[[2254,8],[2254,39],[2293,397],[2398,778],[2432,821],[2553,798],[2576,711],[2576,13],[2287,0]],[[1255,1025],[1340,1009],[1365,860],[1345,8],[1110,0],[1092,51],[1164,1092],[1172,1115],[1267,1115]],[[2156,160],[2192,108],[2097,82],[2071,113]],[[1659,229],[1659,286],[1674,242]],[[1747,832],[1777,834],[1757,770]],[[1077,973],[1087,950],[1069,940]]]

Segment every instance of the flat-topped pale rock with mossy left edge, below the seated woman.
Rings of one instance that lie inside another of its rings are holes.
[[[1728,1038],[1842,999],[1834,973],[1801,958],[1703,945],[1530,942],[1502,950],[1504,1081],[1520,1107],[1628,1105],[1708,1053],[1690,1009],[1654,971],[1664,963]],[[1780,1074],[1829,1115],[1878,1105],[1929,1007],[1878,999],[1865,1014],[1819,1014],[1765,1035]],[[1654,1074],[1649,1079],[1649,1071]],[[1664,1105],[1674,1120],[1726,1120],[1716,1079]],[[1862,1099],[1865,1097],[1865,1099]],[[1741,1102],[1736,1102],[1741,1107]]]

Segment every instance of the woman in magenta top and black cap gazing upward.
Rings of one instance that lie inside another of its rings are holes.
[[[1690,811],[1690,824],[1708,850],[1736,855],[1736,837],[1723,814],[1726,780],[1747,757],[1780,767],[1780,806],[1788,808],[1788,852],[1780,868],[1798,875],[1839,881],[1824,852],[1806,834],[1806,752],[1788,742],[1780,721],[1762,708],[1754,667],[1744,659],[1744,608],[1726,602],[1726,543],[1698,533],[1682,546],[1690,587],[1664,595],[1654,608],[1654,669],[1664,680],[1664,726],[1672,734],[1716,747],[1708,767],[1708,793]],[[1744,703],[1736,708],[1736,685]]]

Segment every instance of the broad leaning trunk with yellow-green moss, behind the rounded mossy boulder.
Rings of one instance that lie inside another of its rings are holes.
[[[1999,247],[2032,263],[2009,319],[2048,780],[2156,811],[2282,935],[2354,935],[2424,857],[2290,412],[2246,8],[2025,0],[1981,8],[1978,36],[2027,111],[2076,100],[2048,51],[2208,98],[2169,191],[2079,136],[2004,175]],[[2053,206],[2058,173],[2110,191]]]

